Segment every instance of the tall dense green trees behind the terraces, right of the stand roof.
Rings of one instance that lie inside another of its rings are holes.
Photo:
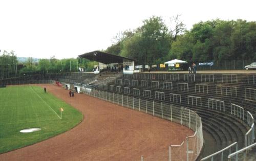
[[[187,30],[180,16],[166,25],[152,16],[131,31],[119,32],[105,51],[137,60],[137,64],[159,64],[172,59],[189,62],[256,59],[256,22],[238,20],[200,21]]]

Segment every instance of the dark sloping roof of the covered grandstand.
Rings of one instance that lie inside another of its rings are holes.
[[[113,55],[113,54],[105,53],[105,52],[101,52],[101,51],[93,51],[93,52],[89,52],[89,53],[84,53],[82,55],[79,55],[79,57],[97,61],[97,62],[101,62],[104,64],[122,63],[123,59],[135,61],[134,59],[125,58],[125,57],[121,57],[118,55]]]

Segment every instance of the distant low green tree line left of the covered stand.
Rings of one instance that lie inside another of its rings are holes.
[[[28,57],[25,63],[21,63],[18,62],[14,51],[4,51],[0,56],[0,76],[3,79],[24,74],[78,72],[78,67],[91,72],[95,64],[97,62],[79,57],[56,59],[55,56],[38,61]]]

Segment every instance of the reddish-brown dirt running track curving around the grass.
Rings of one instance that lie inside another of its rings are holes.
[[[82,112],[83,121],[46,141],[0,155],[0,160],[167,160],[169,144],[193,131],[160,118],[84,94],[44,85]],[[65,114],[65,112],[63,113]]]

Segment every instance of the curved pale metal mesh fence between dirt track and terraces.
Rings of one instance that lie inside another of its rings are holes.
[[[184,138],[184,143],[179,147],[170,145],[168,158],[166,160],[195,160],[203,147],[203,130],[201,118],[198,114],[190,109],[167,104],[161,101],[153,101],[137,97],[126,96],[110,91],[98,89],[82,88],[84,94],[98,99],[118,104],[127,108],[142,111],[153,116],[166,119],[181,125],[184,125],[195,131],[194,135]],[[146,156],[143,155],[144,160]]]

